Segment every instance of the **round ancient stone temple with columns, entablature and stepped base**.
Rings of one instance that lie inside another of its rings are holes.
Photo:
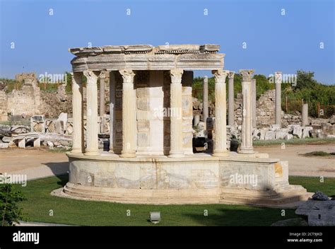
[[[288,163],[252,148],[251,70],[242,70],[242,151],[226,146],[225,54],[218,45],[122,45],[70,49],[74,145],[64,195],[114,202],[247,203],[305,199],[288,184]],[[215,76],[213,154],[192,152],[194,70]],[[110,74],[110,151],[98,149],[98,78]],[[86,76],[86,113],[83,113]],[[86,136],[83,115],[86,115]],[[85,146],[86,144],[86,146]],[[242,178],[242,180],[241,180]]]

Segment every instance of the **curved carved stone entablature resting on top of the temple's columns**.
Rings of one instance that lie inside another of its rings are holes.
[[[122,45],[76,47],[71,64],[74,72],[133,70],[223,69],[225,54],[219,45]]]

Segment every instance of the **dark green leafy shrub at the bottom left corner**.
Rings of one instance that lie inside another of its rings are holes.
[[[0,184],[0,215],[1,226],[15,226],[20,220],[26,220],[23,209],[18,207],[18,202],[25,200],[22,192],[13,190],[9,183]]]

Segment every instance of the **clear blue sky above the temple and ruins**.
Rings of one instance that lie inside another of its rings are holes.
[[[71,71],[73,55],[68,48],[86,47],[88,42],[93,46],[169,42],[221,45],[225,69],[232,71],[255,69],[256,74],[268,76],[303,69],[315,71],[322,83],[335,83],[333,0],[0,3],[0,77],[13,79],[21,71]],[[247,49],[242,42],[247,42]],[[208,72],[196,76],[203,74]]]

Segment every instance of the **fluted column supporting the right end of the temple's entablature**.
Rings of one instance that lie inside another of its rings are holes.
[[[213,71],[215,77],[215,139],[213,156],[228,156],[227,150],[227,102],[225,78],[229,71],[219,69]]]

